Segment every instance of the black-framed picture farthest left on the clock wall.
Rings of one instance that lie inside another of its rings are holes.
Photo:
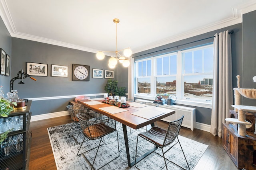
[[[30,76],[47,76],[48,64],[27,62],[27,74]]]

